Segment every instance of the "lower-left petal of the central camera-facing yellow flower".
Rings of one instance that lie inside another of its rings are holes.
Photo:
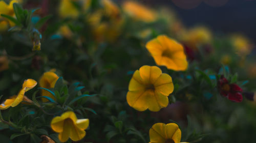
[[[139,111],[144,111],[148,107],[147,94],[144,91],[130,91],[126,95],[126,100],[131,107]]]

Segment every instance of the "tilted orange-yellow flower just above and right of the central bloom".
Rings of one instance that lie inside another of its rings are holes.
[[[187,69],[188,63],[182,45],[167,36],[160,35],[147,42],[146,48],[158,66],[166,66],[175,71]]]

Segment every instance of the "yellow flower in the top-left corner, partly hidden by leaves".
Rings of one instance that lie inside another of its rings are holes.
[[[0,15],[5,14],[12,17],[15,17],[13,4],[18,3],[18,1],[10,1],[9,5],[7,5],[4,1],[0,1]],[[8,30],[9,27],[14,26],[15,24],[2,16],[0,16],[0,32],[4,32]]]

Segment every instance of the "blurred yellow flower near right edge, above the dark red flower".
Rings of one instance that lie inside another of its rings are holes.
[[[237,51],[238,55],[247,55],[252,49],[252,44],[250,41],[242,35],[231,36],[231,42],[235,48],[234,50]]]

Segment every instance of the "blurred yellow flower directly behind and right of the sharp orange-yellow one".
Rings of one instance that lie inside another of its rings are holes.
[[[199,45],[207,44],[211,41],[212,34],[207,27],[197,26],[183,33],[182,41],[192,49],[197,49]]]

